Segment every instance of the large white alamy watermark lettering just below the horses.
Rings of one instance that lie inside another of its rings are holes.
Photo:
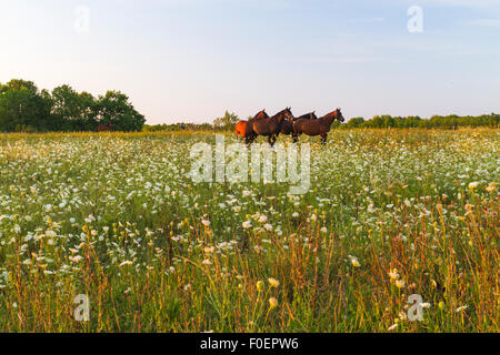
[[[290,183],[291,194],[306,194],[311,186],[310,151],[308,143],[226,145],[224,135],[217,134],[214,149],[208,143],[191,148],[189,175],[194,183]]]

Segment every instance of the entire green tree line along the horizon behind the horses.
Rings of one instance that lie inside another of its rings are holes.
[[[250,119],[250,118],[249,118]],[[94,98],[89,92],[77,92],[70,85],[39,90],[32,81],[11,80],[0,83],[0,132],[83,132],[83,131],[232,131],[240,121],[226,111],[213,123],[173,123],[144,125],[146,119],[120,91],[108,91]],[[420,116],[376,115],[370,120],[353,118],[346,123],[336,122],[333,129],[457,129],[460,126],[500,125],[500,114],[479,116],[434,115]]]

